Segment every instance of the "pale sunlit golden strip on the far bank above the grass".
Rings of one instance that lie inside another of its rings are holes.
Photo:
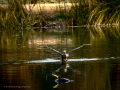
[[[40,11],[46,11],[48,13],[52,13],[54,11],[56,11],[57,9],[59,9],[59,7],[61,9],[65,9],[69,10],[71,8],[72,4],[71,3],[52,3],[52,4],[26,4],[24,7],[28,10],[28,11],[32,11],[32,12],[40,12]]]

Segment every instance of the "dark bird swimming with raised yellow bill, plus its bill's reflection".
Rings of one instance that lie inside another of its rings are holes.
[[[57,77],[57,79],[55,80],[57,85],[55,85],[53,88],[57,88],[62,83],[69,83],[69,82],[73,82],[74,81],[74,80],[69,80],[68,78],[61,78],[60,75],[55,75],[55,74],[52,74],[52,75]]]

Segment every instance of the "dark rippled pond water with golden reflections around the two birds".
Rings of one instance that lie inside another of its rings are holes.
[[[73,51],[61,56],[46,47]],[[60,75],[70,81],[57,83]],[[0,88],[8,90],[118,90],[119,27],[0,31]]]

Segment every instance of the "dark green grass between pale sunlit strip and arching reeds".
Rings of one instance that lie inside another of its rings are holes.
[[[79,26],[87,24],[89,17],[89,4],[83,0],[71,0],[71,8],[66,9],[67,4],[64,4],[64,9],[59,8],[57,17],[65,20],[68,25]]]

